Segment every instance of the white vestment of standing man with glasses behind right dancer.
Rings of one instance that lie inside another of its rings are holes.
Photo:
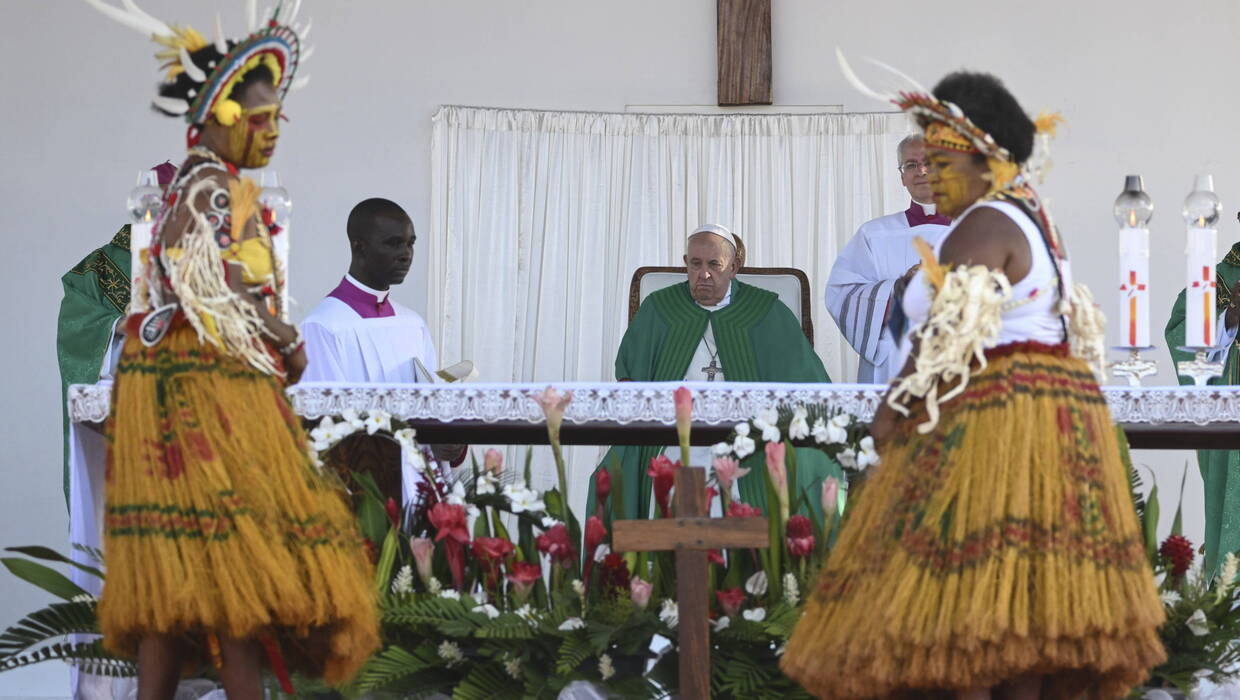
[[[863,223],[831,266],[827,311],[861,356],[858,383],[885,384],[900,370],[894,367],[898,339],[887,328],[892,291],[920,261],[913,239],[920,235],[934,245],[950,223],[934,204],[911,202],[903,212]]]

